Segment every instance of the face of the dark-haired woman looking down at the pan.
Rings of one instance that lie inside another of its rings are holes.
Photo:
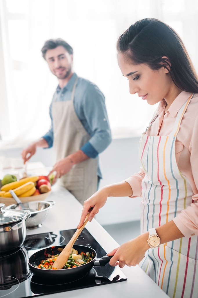
[[[150,105],[168,96],[173,82],[166,68],[153,70],[144,63],[137,65],[129,63],[125,55],[118,53],[118,66],[123,76],[129,80],[130,94],[137,93]]]

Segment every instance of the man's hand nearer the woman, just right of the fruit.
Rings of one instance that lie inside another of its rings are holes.
[[[53,169],[48,174],[50,176],[51,173],[56,171],[56,175],[52,181],[52,184],[56,182],[56,179],[61,178],[64,174],[68,173],[71,168],[73,167],[74,162],[71,158],[65,157],[63,159],[60,159],[56,162],[56,164],[53,166]]]

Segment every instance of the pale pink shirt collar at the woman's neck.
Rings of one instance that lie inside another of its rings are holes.
[[[191,94],[192,94],[191,92],[181,91],[181,93],[175,98],[175,100],[167,110],[173,118],[177,115],[178,111],[183,106],[183,104],[188,100]],[[161,102],[159,103],[157,114],[160,114],[160,112],[164,110],[165,106],[166,106],[166,101],[162,99]],[[167,111],[165,113],[167,113]]]

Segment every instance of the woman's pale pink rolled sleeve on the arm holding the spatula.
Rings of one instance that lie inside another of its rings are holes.
[[[142,184],[142,179],[144,179],[144,177],[145,177],[145,172],[143,170],[143,167],[140,167],[140,172],[135,173],[129,178],[123,180],[128,182],[132,188],[133,193],[130,198],[142,197],[141,184]]]

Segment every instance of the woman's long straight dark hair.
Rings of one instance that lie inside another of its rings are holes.
[[[120,35],[117,50],[126,54],[132,64],[146,63],[153,70],[171,64],[169,73],[175,85],[198,93],[198,77],[188,52],[179,35],[167,24],[154,18],[137,21]]]

